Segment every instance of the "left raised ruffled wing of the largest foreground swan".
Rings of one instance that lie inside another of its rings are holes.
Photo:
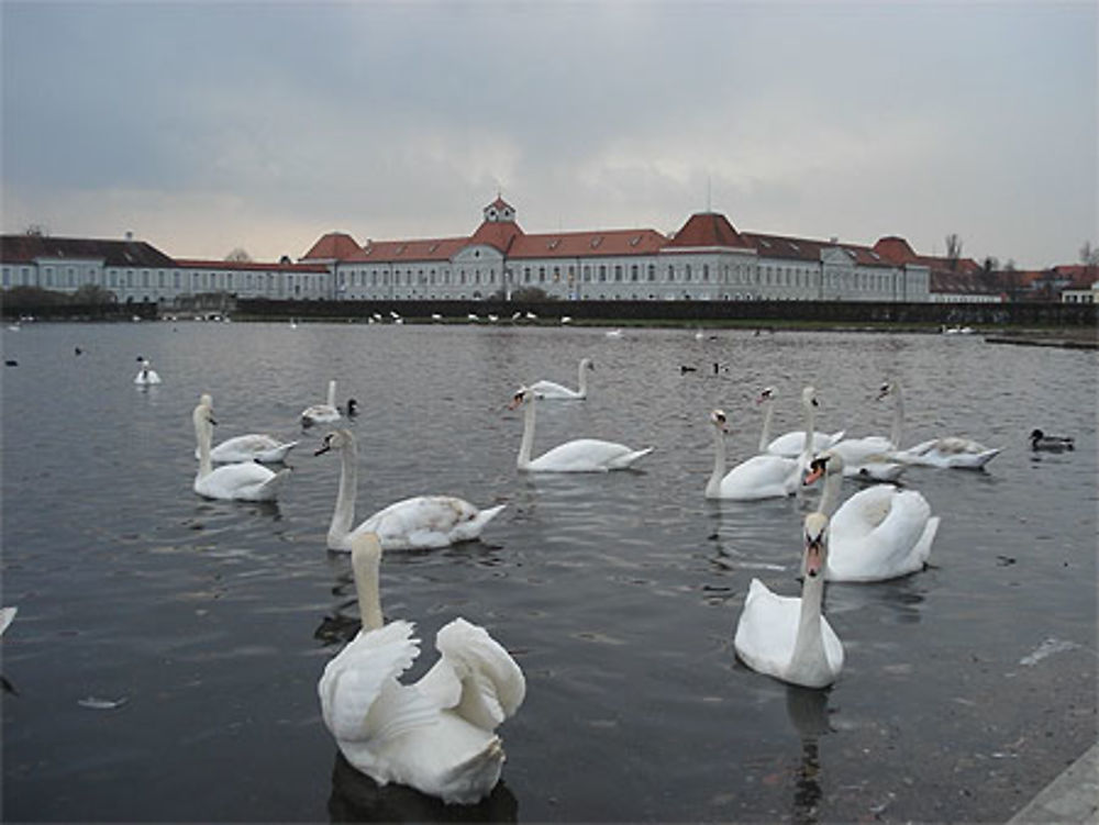
[[[436,709],[397,678],[420,654],[409,622],[359,633],[324,668],[321,715],[341,742],[384,740],[434,723]]]

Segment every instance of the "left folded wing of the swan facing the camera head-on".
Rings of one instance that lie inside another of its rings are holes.
[[[733,637],[736,655],[753,670],[778,676],[793,656],[800,615],[800,599],[776,595],[753,579]]]

